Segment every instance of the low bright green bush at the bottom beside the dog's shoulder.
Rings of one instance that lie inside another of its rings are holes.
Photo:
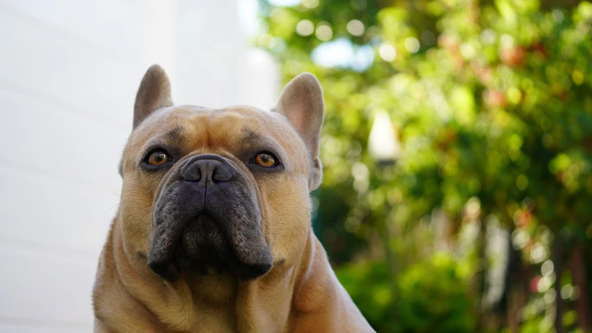
[[[344,266],[337,276],[378,332],[473,332],[475,317],[467,287],[469,276],[460,266],[442,253],[409,266],[398,281],[396,302],[400,306],[396,307],[396,314],[391,311],[395,300],[384,262]]]

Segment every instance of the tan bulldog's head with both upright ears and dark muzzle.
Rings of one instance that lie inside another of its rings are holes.
[[[135,103],[121,161],[128,254],[174,281],[226,271],[241,280],[294,264],[310,232],[309,191],[321,180],[321,87],[295,78],[275,110],[173,106],[153,66]]]

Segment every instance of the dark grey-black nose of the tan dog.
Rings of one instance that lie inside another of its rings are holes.
[[[228,182],[235,176],[235,168],[220,155],[196,155],[185,161],[181,167],[181,177],[189,182]]]

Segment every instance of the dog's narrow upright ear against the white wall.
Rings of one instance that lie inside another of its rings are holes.
[[[164,69],[152,65],[139,84],[134,105],[134,128],[152,112],[173,105],[171,83]]]

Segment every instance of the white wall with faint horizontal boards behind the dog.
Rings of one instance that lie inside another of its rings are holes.
[[[233,0],[0,0],[0,332],[90,332],[135,92],[269,108],[277,70]]]

